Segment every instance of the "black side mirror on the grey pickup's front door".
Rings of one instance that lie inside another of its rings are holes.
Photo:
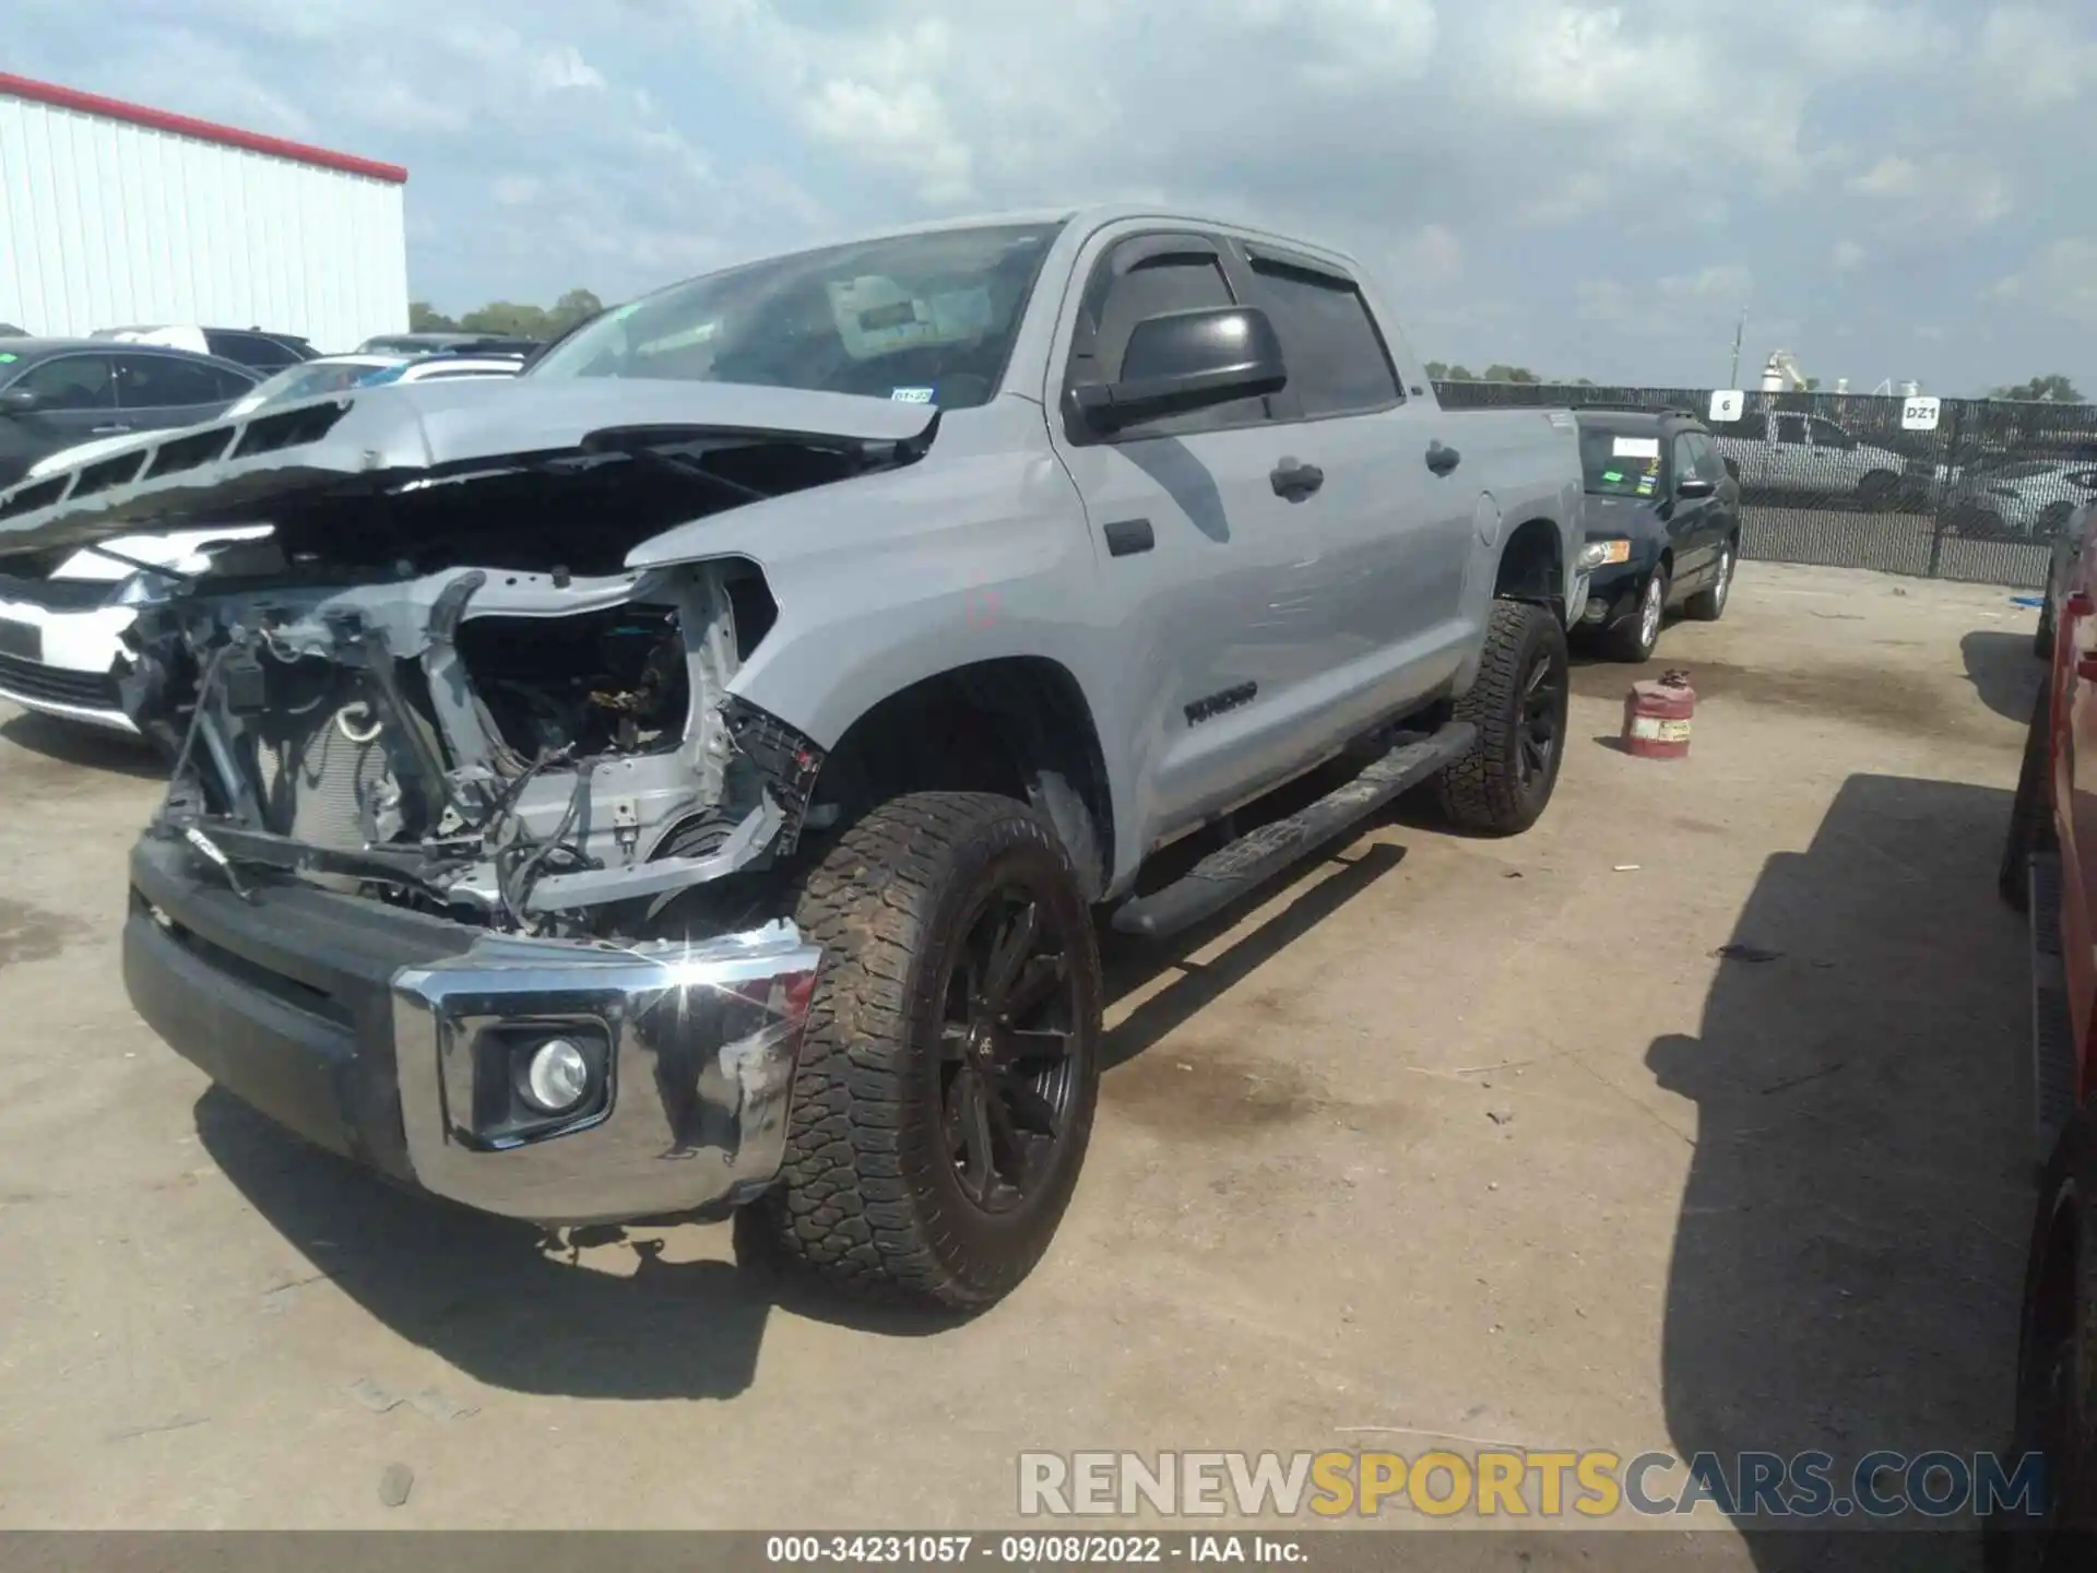
[[[1137,323],[1122,354],[1122,380],[1080,386],[1078,409],[1095,430],[1114,432],[1132,422],[1281,392],[1288,382],[1281,340],[1264,310],[1199,306]]]

